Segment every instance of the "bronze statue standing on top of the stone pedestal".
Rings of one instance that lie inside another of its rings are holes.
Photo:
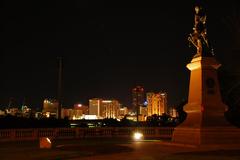
[[[193,33],[191,33],[188,37],[189,42],[197,49],[195,56],[213,56],[213,50],[211,49],[207,39],[206,20],[207,16],[203,8],[196,6]]]

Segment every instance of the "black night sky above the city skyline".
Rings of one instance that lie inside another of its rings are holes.
[[[25,98],[34,107],[41,107],[46,97],[56,97],[60,56],[64,106],[87,104],[94,97],[130,105],[136,85],[146,92],[166,91],[169,105],[187,98],[185,66],[195,52],[187,36],[195,2],[159,2],[6,1],[0,107],[7,106],[10,97],[16,104]],[[239,15],[238,1],[211,1],[205,7],[216,57],[234,68],[239,54],[229,50],[235,43],[229,26],[235,24],[228,17],[237,11]]]

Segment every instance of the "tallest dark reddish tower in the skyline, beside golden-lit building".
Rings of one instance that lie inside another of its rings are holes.
[[[139,114],[140,106],[144,103],[144,89],[141,86],[136,86],[132,89],[132,108],[133,113]]]

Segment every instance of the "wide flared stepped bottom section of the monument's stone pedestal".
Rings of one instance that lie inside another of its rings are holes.
[[[174,129],[172,142],[195,146],[240,144],[240,129],[224,117],[226,105],[215,102],[206,106],[191,103],[184,106],[188,115]]]

